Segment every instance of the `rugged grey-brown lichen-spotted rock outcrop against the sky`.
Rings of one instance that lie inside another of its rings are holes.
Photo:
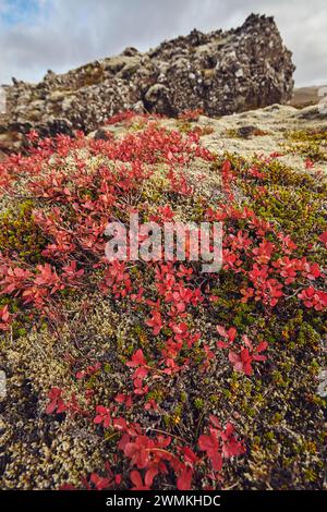
[[[3,139],[32,127],[45,135],[89,132],[126,109],[177,115],[201,108],[222,115],[284,103],[293,71],[274,19],[251,14],[237,29],[194,29],[146,53],[126,48],[62,75],[48,71],[37,85],[13,81],[0,133]]]

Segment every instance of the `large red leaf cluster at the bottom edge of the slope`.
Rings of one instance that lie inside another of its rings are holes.
[[[106,416],[106,407],[97,407],[101,418]],[[99,422],[100,423],[100,422]],[[130,460],[132,490],[149,490],[156,477],[168,475],[169,468],[175,473],[175,486],[179,490],[189,490],[192,488],[193,475],[197,466],[204,464],[204,459],[199,458],[195,451],[187,446],[182,446],[180,440],[171,437],[157,435],[149,437],[141,434],[137,424],[129,424],[123,418],[114,418],[112,427],[122,432],[118,448],[123,451]],[[210,416],[210,426],[208,435],[201,435],[198,447],[206,453],[205,459],[214,471],[220,472],[225,459],[238,456],[244,453],[244,446],[238,440],[234,427],[228,423],[226,429],[221,428],[219,420]],[[173,450],[177,454],[173,453]],[[216,479],[215,475],[210,478]],[[98,490],[112,488],[121,483],[121,475],[113,475],[108,472],[107,477],[101,477],[93,473],[89,483],[85,481],[86,488],[96,488]]]

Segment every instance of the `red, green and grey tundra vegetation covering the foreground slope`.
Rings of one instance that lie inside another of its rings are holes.
[[[197,119],[32,131],[0,163],[2,488],[324,486],[323,136],[286,134],[294,170],[209,150]],[[222,222],[222,269],[109,263],[135,211]]]

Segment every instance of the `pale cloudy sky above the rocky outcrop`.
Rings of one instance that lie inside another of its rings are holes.
[[[327,83],[326,0],[0,0],[0,84],[37,82],[162,39],[231,28],[251,13],[274,15],[293,51],[295,83]]]

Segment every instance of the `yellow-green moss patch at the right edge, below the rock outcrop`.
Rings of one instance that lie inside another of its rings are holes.
[[[298,255],[307,255],[307,244],[315,243],[326,230],[323,216],[326,183],[308,173],[294,171],[276,159],[246,162],[232,158],[231,163],[235,169],[238,187],[245,196],[244,204],[278,230],[289,233],[299,245]],[[257,169],[259,176],[249,172],[253,168]],[[267,193],[263,194],[259,187],[265,187]],[[323,260],[319,251],[315,260]]]

